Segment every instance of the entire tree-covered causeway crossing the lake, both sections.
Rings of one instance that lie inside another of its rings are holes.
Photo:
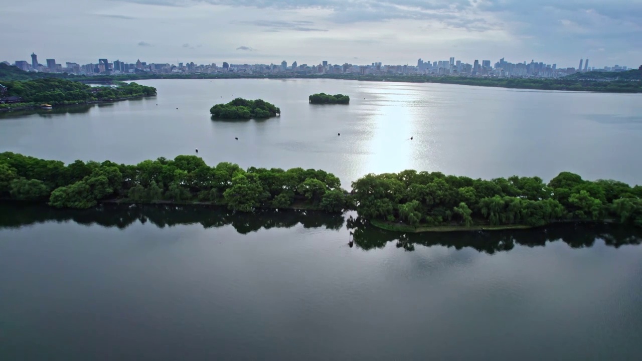
[[[369,174],[352,191],[322,170],[208,166],[194,155],[136,165],[75,161],[65,165],[0,154],[0,198],[89,208],[98,202],[212,204],[259,208],[355,209],[393,231],[456,231],[537,227],[557,222],[611,222],[642,227],[642,186],[584,180],[562,172],[539,177],[472,179],[438,172]]]

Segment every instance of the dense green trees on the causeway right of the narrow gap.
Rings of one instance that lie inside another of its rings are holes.
[[[369,174],[352,183],[361,217],[414,227],[438,225],[544,225],[560,220],[642,226],[642,187],[615,180],[583,180],[562,172],[493,180],[415,172]]]

